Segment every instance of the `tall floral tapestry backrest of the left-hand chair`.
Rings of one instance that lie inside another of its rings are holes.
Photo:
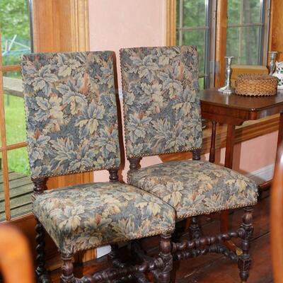
[[[118,168],[113,53],[27,54],[21,65],[32,177]]]

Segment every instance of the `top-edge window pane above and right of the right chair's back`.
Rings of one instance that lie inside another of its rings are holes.
[[[197,27],[205,25],[206,0],[184,0],[183,26]]]

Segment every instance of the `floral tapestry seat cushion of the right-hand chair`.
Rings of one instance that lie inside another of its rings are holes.
[[[128,183],[175,208],[177,218],[256,204],[258,186],[207,161],[171,161],[129,172]]]

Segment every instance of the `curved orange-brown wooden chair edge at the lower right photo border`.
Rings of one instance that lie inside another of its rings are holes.
[[[283,283],[283,144],[277,152],[271,192],[271,250],[275,283]]]

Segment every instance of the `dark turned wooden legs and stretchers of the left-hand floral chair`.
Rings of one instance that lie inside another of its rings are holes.
[[[109,180],[111,183],[118,182],[118,170],[110,169]],[[33,179],[34,189],[33,198],[37,195],[42,194],[46,190],[47,178]],[[50,277],[45,268],[45,229],[36,219],[37,224],[35,226],[36,231],[36,277],[37,282],[49,283]],[[125,279],[134,277],[137,282],[148,282],[144,272],[152,272],[156,278],[156,282],[170,283],[171,282],[171,271],[173,270],[173,247],[171,245],[171,234],[161,234],[160,240],[160,253],[157,258],[150,258],[149,256],[143,256],[141,250],[136,250],[135,253],[139,255],[142,263],[140,265],[125,265],[120,262],[117,253],[117,245],[112,245],[112,262],[114,268],[109,268],[101,272],[96,272],[94,275],[85,275],[81,278],[74,277],[74,265],[73,255],[67,253],[61,253],[62,258],[62,275],[60,282],[62,283],[95,283],[95,282],[117,282],[117,279]]]

